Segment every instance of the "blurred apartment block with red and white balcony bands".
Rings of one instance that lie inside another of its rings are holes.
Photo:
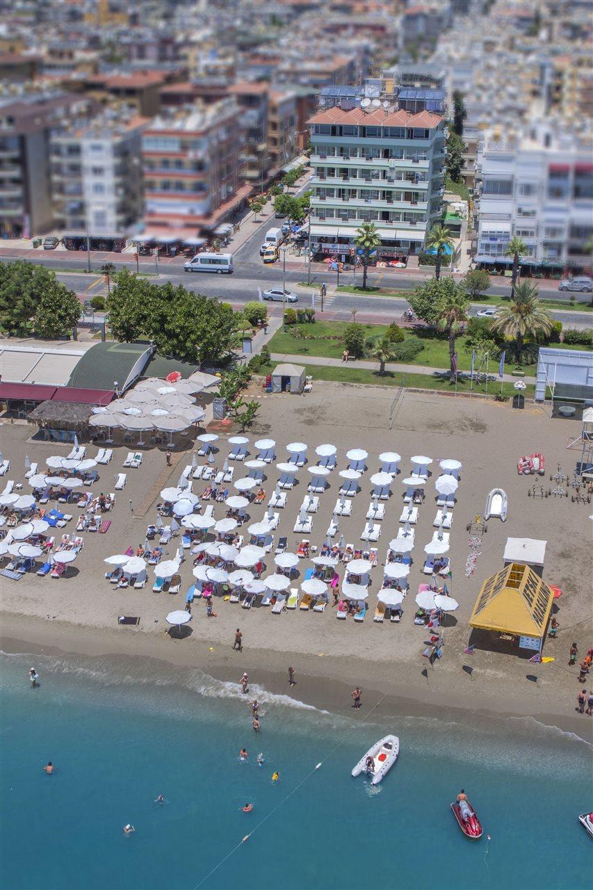
[[[147,226],[191,229],[223,222],[250,188],[242,187],[239,108],[226,99],[171,110],[142,137]]]

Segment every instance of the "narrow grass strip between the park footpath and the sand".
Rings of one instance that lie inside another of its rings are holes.
[[[272,374],[275,363],[264,366],[259,371],[260,374]],[[368,371],[362,368],[332,368],[331,366],[306,365],[306,373],[313,376],[315,380],[336,380],[345,384],[371,384],[375,386],[410,386],[417,389],[431,389],[441,392],[455,392],[455,384],[451,384],[448,377],[429,375],[429,374],[393,374],[387,372],[383,376],[379,376],[378,371]],[[457,392],[469,392],[470,384],[468,380],[458,380]],[[485,384],[474,384],[473,392],[484,393],[486,391]],[[502,391],[509,397],[515,394],[513,384],[503,384]],[[494,396],[500,392],[499,383],[488,384],[488,394]],[[535,394],[535,386],[528,384],[522,390],[526,399],[532,399]]]

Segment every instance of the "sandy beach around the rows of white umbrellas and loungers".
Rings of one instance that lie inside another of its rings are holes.
[[[371,576],[370,610],[365,621],[351,619],[337,622],[336,611],[329,606],[322,614],[284,612],[272,615],[265,608],[250,611],[239,605],[216,599],[216,618],[207,619],[203,603],[193,607],[191,634],[177,639],[167,633],[168,611],[182,608],[185,591],[191,585],[191,554],[183,562],[179,595],[155,594],[150,584],[142,590],[114,590],[104,580],[106,556],[134,549],[142,543],[147,524],[153,522],[158,492],[175,485],[183,467],[191,461],[191,452],[174,454],[174,466],[166,466],[161,451],[149,450],[142,466],[127,470],[126,489],[118,492],[111,511],[112,525],[105,535],[85,535],[85,546],[65,577],[59,580],[26,575],[18,583],[2,579],[2,648],[4,651],[64,651],[83,655],[125,653],[150,656],[179,665],[202,667],[212,676],[238,681],[248,670],[253,682],[271,691],[288,692],[288,664],[296,668],[297,685],[293,694],[319,708],[339,711],[350,707],[349,692],[360,684],[366,696],[380,700],[381,709],[396,708],[406,713],[432,713],[435,708],[471,709],[500,716],[533,716],[541,723],[556,725],[581,737],[590,737],[591,721],[574,713],[578,692],[575,668],[568,667],[568,649],[574,640],[584,654],[591,644],[590,613],[590,506],[573,504],[570,498],[534,499],[527,495],[536,485],[553,487],[549,473],[559,464],[572,473],[578,452],[566,449],[569,439],[580,432],[574,421],[552,421],[544,410],[530,406],[515,411],[509,404],[482,400],[408,393],[389,430],[389,411],[394,394],[380,387],[343,386],[316,383],[306,397],[264,396],[256,426],[249,431],[250,441],[271,436],[277,441],[279,461],[285,459],[289,441],[309,445],[309,463],[314,463],[314,448],[322,442],[337,446],[338,469],[345,466],[345,450],[359,447],[369,451],[369,470],[361,479],[361,491],[354,498],[353,514],[340,522],[345,540],[361,546],[364,515],[370,502],[370,474],[378,470],[378,454],[397,450],[402,455],[400,468],[410,471],[410,456],[418,453],[433,458],[432,475],[426,486],[426,501],[419,511],[416,526],[416,561],[410,571],[410,592],[403,603],[399,625],[373,623],[375,594],[380,587],[380,565]],[[10,457],[10,478],[24,473],[25,453],[45,465],[50,454],[66,454],[64,446],[28,441],[32,430],[27,425],[2,426],[2,450]],[[222,465],[229,446],[224,433],[217,456]],[[127,449],[117,449],[108,466],[98,467],[100,480],[93,490],[113,490],[115,475]],[[253,451],[253,448],[251,449]],[[547,460],[547,473],[540,477],[519,477],[518,457],[541,451]],[[93,446],[88,448],[93,456]],[[252,455],[253,456],[253,455]],[[454,457],[462,462],[457,504],[451,527],[451,595],[459,601],[459,610],[447,620],[444,631],[443,659],[431,667],[421,657],[426,629],[413,624],[414,595],[422,574],[423,546],[433,535],[436,461]],[[264,489],[272,493],[279,472],[274,465],[266,470]],[[235,478],[246,474],[236,466]],[[288,504],[280,511],[276,540],[287,536],[288,550],[294,552],[303,537],[293,533],[298,509],[305,495],[308,473],[301,472],[300,484],[288,494]],[[313,518],[313,532],[307,536],[321,546],[329,526],[339,485],[337,472],[329,476],[329,490],[320,498],[320,509]],[[378,541],[378,562],[386,560],[387,544],[397,532],[402,512],[402,485],[392,486],[393,496],[386,504],[382,535]],[[467,578],[464,567],[469,554],[467,522],[482,513],[485,498],[498,486],[508,492],[508,521],[491,520],[483,536],[475,575]],[[205,483],[193,482],[200,494]],[[26,487],[23,490],[27,490]],[[266,498],[267,501],[267,498]],[[251,506],[251,522],[264,517],[264,506]],[[75,520],[77,508],[72,506]],[[216,505],[215,517],[222,518],[224,506]],[[71,526],[71,527],[70,527]],[[59,531],[59,530],[58,530]],[[467,619],[483,578],[502,567],[502,554],[508,536],[547,540],[544,579],[561,587],[564,594],[557,601],[556,618],[560,629],[556,640],[548,640],[544,655],[556,660],[533,665],[528,654],[513,651],[476,649],[464,654],[467,643]],[[166,547],[164,558],[172,558],[178,546],[174,538]],[[293,582],[298,586],[301,577]],[[272,558],[268,569],[273,571]],[[342,572],[340,572],[341,574]],[[118,615],[137,615],[139,627],[118,627]],[[232,651],[234,630],[243,633],[244,651]],[[416,710],[415,710],[416,709]]]

